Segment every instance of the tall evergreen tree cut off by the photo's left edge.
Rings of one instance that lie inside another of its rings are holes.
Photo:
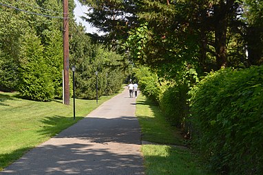
[[[0,6],[0,91],[16,91],[20,37],[27,24],[13,10]]]

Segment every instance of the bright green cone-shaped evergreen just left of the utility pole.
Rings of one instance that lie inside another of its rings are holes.
[[[54,87],[48,67],[43,60],[41,42],[34,34],[27,34],[23,37],[25,37],[26,43],[21,48],[19,93],[29,100],[52,100]]]

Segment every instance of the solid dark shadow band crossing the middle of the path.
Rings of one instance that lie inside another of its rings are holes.
[[[140,144],[140,130],[135,117],[85,117],[81,122],[63,130],[56,138],[86,139],[94,143]]]

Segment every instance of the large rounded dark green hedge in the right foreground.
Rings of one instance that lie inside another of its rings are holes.
[[[263,67],[211,73],[191,95],[193,139],[211,169],[263,174]]]

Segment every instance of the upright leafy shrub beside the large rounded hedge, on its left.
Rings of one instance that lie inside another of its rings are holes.
[[[160,96],[160,106],[172,125],[182,128],[185,137],[189,137],[190,125],[186,120],[189,115],[189,94],[191,87],[199,81],[196,66],[188,62],[176,65],[178,71],[168,89]]]

